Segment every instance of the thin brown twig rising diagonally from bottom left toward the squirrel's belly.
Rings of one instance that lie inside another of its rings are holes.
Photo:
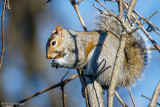
[[[26,101],[28,101],[28,100],[30,100],[30,99],[42,94],[42,93],[44,93],[44,92],[47,92],[47,91],[49,91],[51,89],[54,89],[54,88],[57,88],[57,87],[60,87],[60,86],[63,86],[64,84],[69,83],[71,80],[75,79],[76,77],[78,77],[78,74],[75,74],[75,75],[69,77],[68,79],[66,79],[64,81],[61,81],[61,82],[59,82],[59,83],[57,83],[57,84],[55,84],[55,85],[53,85],[53,86],[51,86],[49,88],[46,88],[46,89],[44,89],[42,91],[39,91],[39,92],[37,92],[37,93],[35,93],[35,94],[33,94],[33,95],[21,100],[21,101],[19,101],[17,104],[24,103],[24,102],[26,102]],[[18,105],[14,105],[14,107],[16,107],[16,106],[18,106]]]

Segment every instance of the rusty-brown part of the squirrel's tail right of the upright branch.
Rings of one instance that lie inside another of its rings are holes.
[[[139,33],[133,33],[125,45],[124,80],[123,85],[128,86],[138,79],[148,61],[148,50],[145,41]]]

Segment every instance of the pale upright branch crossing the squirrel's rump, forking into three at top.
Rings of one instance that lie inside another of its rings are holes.
[[[117,82],[117,75],[119,72],[120,67],[122,66],[122,62],[123,62],[123,50],[124,50],[124,46],[125,46],[125,42],[127,39],[127,34],[132,33],[132,29],[129,26],[129,23],[127,23],[127,21],[124,23],[122,20],[122,12],[123,12],[123,8],[122,8],[122,1],[119,1],[119,17],[117,17],[115,14],[113,14],[112,12],[110,12],[99,0],[96,0],[101,6],[103,6],[111,16],[115,17],[123,26],[123,28],[125,28],[125,31],[122,32],[121,36],[120,36],[120,43],[119,43],[119,47],[117,50],[117,55],[115,58],[115,63],[113,66],[113,73],[112,73],[112,80],[111,80],[111,85],[109,87],[108,90],[108,107],[112,107],[113,106],[113,96],[114,96],[114,90],[116,87],[116,82]],[[128,22],[130,22],[130,15],[132,14],[132,11],[134,9],[134,6],[136,4],[136,0],[132,0],[132,3],[130,5],[130,10],[128,10],[128,13],[126,17],[128,17]]]

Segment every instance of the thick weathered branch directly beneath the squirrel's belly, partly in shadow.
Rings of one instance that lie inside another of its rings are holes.
[[[83,75],[81,70],[77,69],[81,84],[82,94],[86,100],[87,107],[104,107],[103,103],[103,90],[97,81],[93,77],[87,77]]]

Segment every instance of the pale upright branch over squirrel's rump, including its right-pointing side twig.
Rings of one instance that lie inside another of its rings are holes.
[[[142,24],[139,23],[138,27],[131,28],[130,27],[130,20],[131,20],[131,16],[134,15],[134,14],[132,14],[132,12],[134,10],[134,6],[135,6],[137,0],[132,0],[130,6],[129,7],[127,6],[126,9],[128,11],[127,11],[127,14],[126,14],[126,20],[125,20],[125,22],[123,22],[120,19],[121,16],[122,16],[122,13],[121,13],[121,8],[122,7],[120,7],[120,1],[119,0],[118,0],[118,3],[119,3],[119,17],[115,16],[115,14],[113,14],[112,12],[110,12],[99,0],[96,0],[96,1],[102,7],[104,7],[111,16],[115,17],[122,24],[122,26],[124,28],[124,32],[122,32],[122,34],[121,34],[121,40],[120,40],[120,44],[119,44],[118,51],[117,51],[117,56],[116,56],[115,63],[114,63],[111,85],[110,85],[109,90],[108,90],[108,107],[112,107],[113,106],[113,96],[114,96],[114,90],[115,90],[115,85],[116,85],[116,79],[117,79],[117,75],[118,75],[121,63],[123,61],[122,55],[123,55],[123,50],[124,50],[124,46],[125,46],[125,41],[126,41],[127,35],[133,33],[137,29],[141,28],[142,25],[144,23],[146,23],[149,20],[149,18],[151,18],[155,13],[153,15],[151,15],[147,20],[145,20]],[[102,13],[102,11],[101,11],[101,13]],[[137,20],[136,23],[138,23],[138,20]],[[142,27],[142,29],[143,29],[143,27]],[[133,99],[132,99],[132,101],[133,101]],[[133,102],[133,104],[134,104],[134,102]]]

